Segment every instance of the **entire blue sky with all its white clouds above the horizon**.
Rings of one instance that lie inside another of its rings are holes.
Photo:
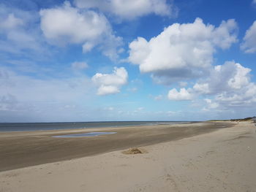
[[[255,0],[1,0],[0,122],[256,115]]]

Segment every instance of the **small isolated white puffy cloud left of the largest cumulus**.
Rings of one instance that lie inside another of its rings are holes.
[[[112,74],[95,74],[91,80],[99,87],[98,95],[119,93],[122,85],[127,83],[128,73],[124,67],[115,67]]]

